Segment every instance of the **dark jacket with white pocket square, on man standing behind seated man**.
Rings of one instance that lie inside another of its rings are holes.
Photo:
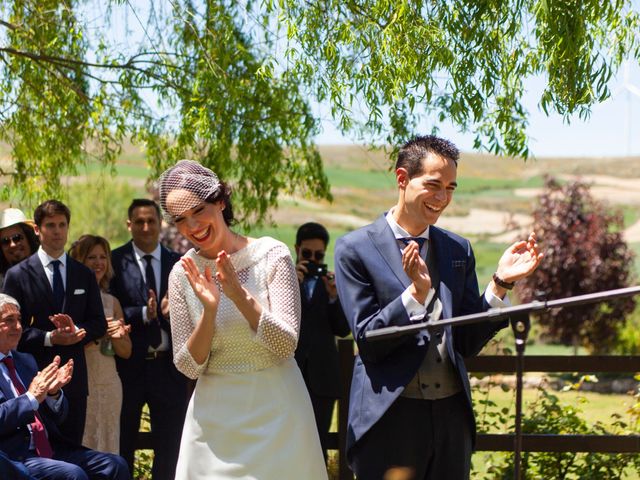
[[[65,394],[69,397],[87,396],[84,345],[104,336],[107,322],[95,273],[67,255],[66,277],[62,312],[56,311],[51,284],[37,253],[7,271],[4,293],[20,304],[23,332],[18,350],[32,354],[40,368],[49,365],[56,355],[60,355],[61,365],[72,358],[73,378],[65,387]],[[78,328],[87,331],[85,338],[74,345],[45,347],[45,334],[55,329],[49,317],[56,313],[68,314]]]

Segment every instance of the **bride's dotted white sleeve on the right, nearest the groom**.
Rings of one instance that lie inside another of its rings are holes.
[[[254,340],[279,358],[292,357],[300,332],[300,288],[289,250],[278,245],[267,253],[269,305],[263,305]]]

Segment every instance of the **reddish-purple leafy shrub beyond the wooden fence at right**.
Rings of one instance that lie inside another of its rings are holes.
[[[622,238],[622,214],[610,213],[589,193],[587,185],[561,186],[547,177],[545,191],[533,214],[545,258],[538,269],[518,283],[524,302],[557,299],[627,287],[633,252]],[[546,334],[565,345],[594,353],[609,351],[625,315],[635,300],[621,298],[538,314]]]

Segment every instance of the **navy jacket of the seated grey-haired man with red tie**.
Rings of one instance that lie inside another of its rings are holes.
[[[11,352],[11,356],[25,389],[29,388],[29,384],[38,372],[35,359],[27,353],[15,350]],[[63,398],[62,408],[58,413],[47,407],[46,402],[40,404],[38,412],[47,429],[49,442],[54,451],[56,445],[69,444],[69,441],[60,434],[56,425],[61,423],[67,415],[66,398]],[[35,413],[31,409],[31,402],[27,395],[14,396],[11,386],[0,375],[0,450],[12,460],[22,462],[28,456],[31,433],[27,426],[33,423],[34,419]]]

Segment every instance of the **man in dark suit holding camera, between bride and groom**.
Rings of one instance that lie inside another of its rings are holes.
[[[302,322],[296,361],[302,372],[326,459],[333,405],[340,396],[340,364],[335,335],[349,334],[338,301],[333,272],[324,263],[329,233],[319,223],[302,225],[296,234],[296,273],[300,282]]]

